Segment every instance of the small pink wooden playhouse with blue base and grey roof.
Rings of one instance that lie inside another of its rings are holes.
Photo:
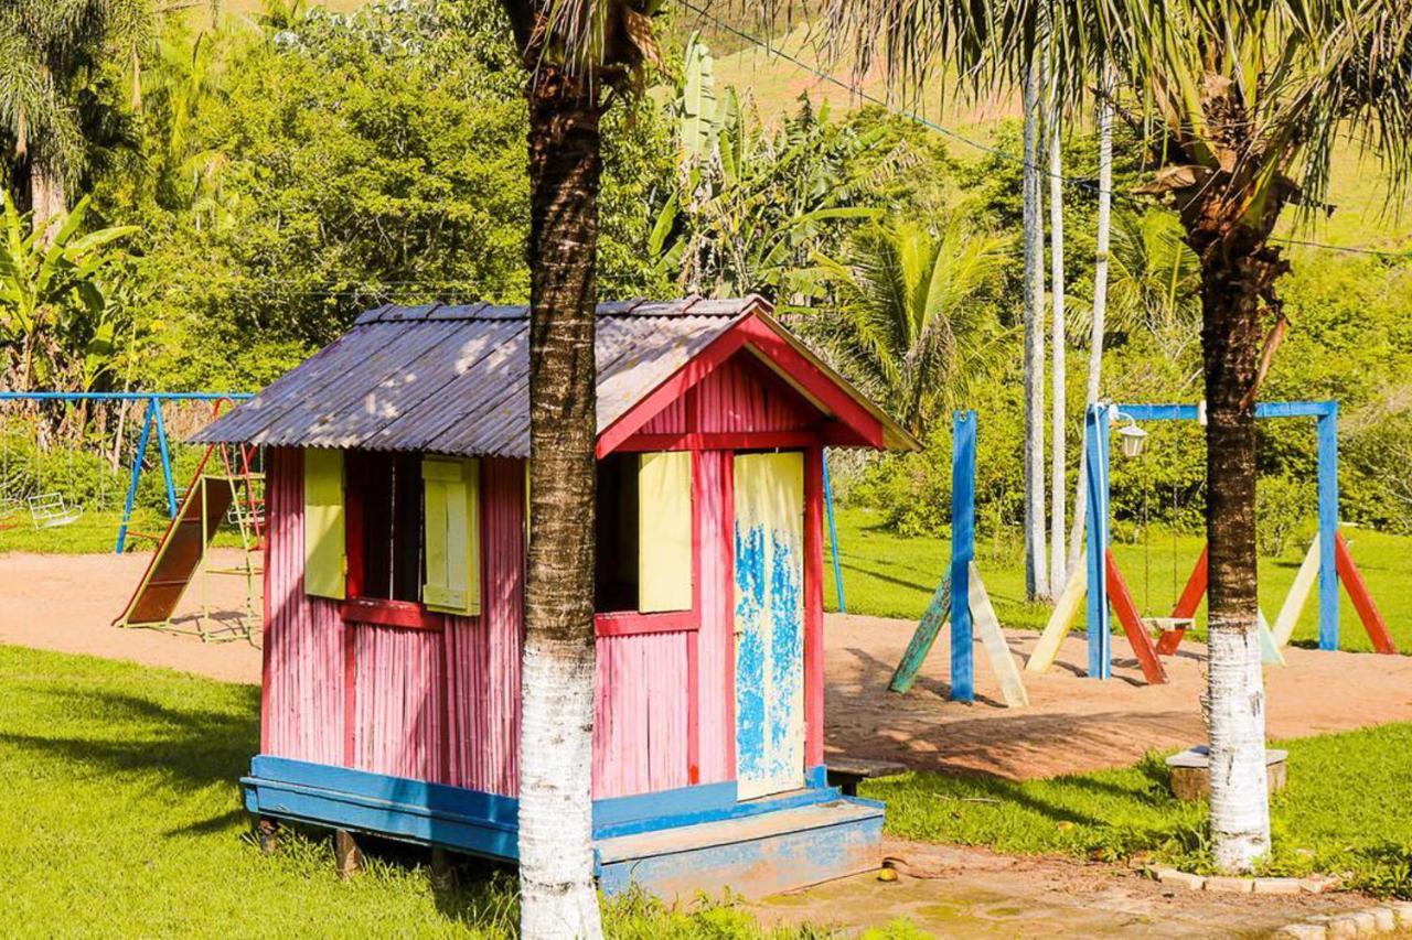
[[[384,306],[219,419],[267,450],[263,817],[513,861],[527,309]],[[760,298],[599,309],[604,891],[877,864],[823,758],[825,446],[915,442]]]

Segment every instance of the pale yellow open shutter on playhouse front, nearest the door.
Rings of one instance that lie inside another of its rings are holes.
[[[692,454],[644,453],[637,473],[637,608],[692,608]]]

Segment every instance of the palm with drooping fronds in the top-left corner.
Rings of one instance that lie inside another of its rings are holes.
[[[106,58],[136,62],[151,28],[150,0],[13,0],[0,4],[0,127],[27,181],[34,224],[68,209],[83,168],[79,93]],[[136,88],[136,72],[134,72]],[[45,234],[51,237],[51,234]]]

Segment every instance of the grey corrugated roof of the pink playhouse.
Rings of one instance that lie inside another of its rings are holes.
[[[599,430],[753,311],[730,301],[599,305]],[[530,456],[527,306],[380,306],[192,440]]]

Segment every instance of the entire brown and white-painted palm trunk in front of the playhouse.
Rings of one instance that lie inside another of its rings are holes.
[[[600,104],[530,88],[530,567],[520,730],[521,934],[600,937],[593,884],[593,357]]]

